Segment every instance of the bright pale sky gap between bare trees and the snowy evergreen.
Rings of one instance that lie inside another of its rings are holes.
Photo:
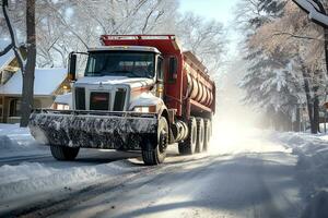
[[[255,113],[242,102],[244,93],[238,88],[238,82],[245,71],[244,62],[239,59],[237,45],[241,35],[233,28],[234,8],[239,0],[179,0],[180,12],[191,11],[209,20],[214,19],[224,24],[227,38],[227,53],[224,57],[223,68],[220,70],[220,98],[221,107],[218,108],[218,119],[222,122],[238,123],[241,120],[245,125],[255,122]],[[218,83],[218,82],[216,82]],[[226,112],[230,111],[230,112]]]

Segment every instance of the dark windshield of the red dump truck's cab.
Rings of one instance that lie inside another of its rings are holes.
[[[155,53],[133,51],[90,52],[85,76],[154,77]]]

